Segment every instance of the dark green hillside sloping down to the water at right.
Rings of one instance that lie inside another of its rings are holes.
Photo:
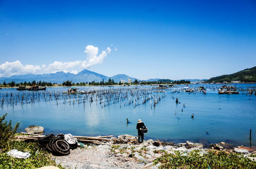
[[[256,82],[256,66],[250,69],[238,71],[230,75],[222,75],[220,77],[212,77],[206,82],[231,82],[240,80],[241,82]]]

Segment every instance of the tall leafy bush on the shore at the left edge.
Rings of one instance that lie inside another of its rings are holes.
[[[9,149],[9,143],[10,140],[15,135],[17,129],[19,128],[19,122],[17,122],[16,126],[12,128],[12,121],[4,121],[7,114],[4,114],[2,117],[0,117],[0,149],[2,151],[6,151],[6,149]]]

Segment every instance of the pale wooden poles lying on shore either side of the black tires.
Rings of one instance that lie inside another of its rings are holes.
[[[26,140],[33,140],[38,141],[39,138],[42,138],[45,135],[38,135],[38,134],[32,134],[32,133],[20,133],[22,135],[15,135],[13,140],[16,141],[26,141]],[[110,136],[74,136],[74,138],[77,138],[77,141],[79,142],[88,142],[88,143],[95,143],[95,144],[104,144],[104,142],[109,142]]]

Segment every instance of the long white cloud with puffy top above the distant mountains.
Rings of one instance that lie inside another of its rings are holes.
[[[104,58],[111,52],[111,48],[106,48],[99,54],[99,48],[88,45],[84,51],[86,59],[84,61],[74,62],[59,62],[54,61],[49,65],[42,64],[42,66],[26,64],[23,65],[20,61],[5,62],[0,64],[0,77],[10,77],[12,75],[24,75],[27,73],[42,74],[42,73],[56,73],[57,71],[64,71],[70,73],[77,73],[85,68],[89,68],[95,64],[102,63]],[[99,55],[98,55],[99,54]]]

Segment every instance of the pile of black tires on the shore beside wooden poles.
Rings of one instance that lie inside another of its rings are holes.
[[[42,147],[45,147],[47,151],[52,152],[56,156],[67,156],[70,154],[70,149],[75,149],[76,145],[70,145],[63,134],[54,136],[53,134],[46,135],[39,138],[39,143]]]

